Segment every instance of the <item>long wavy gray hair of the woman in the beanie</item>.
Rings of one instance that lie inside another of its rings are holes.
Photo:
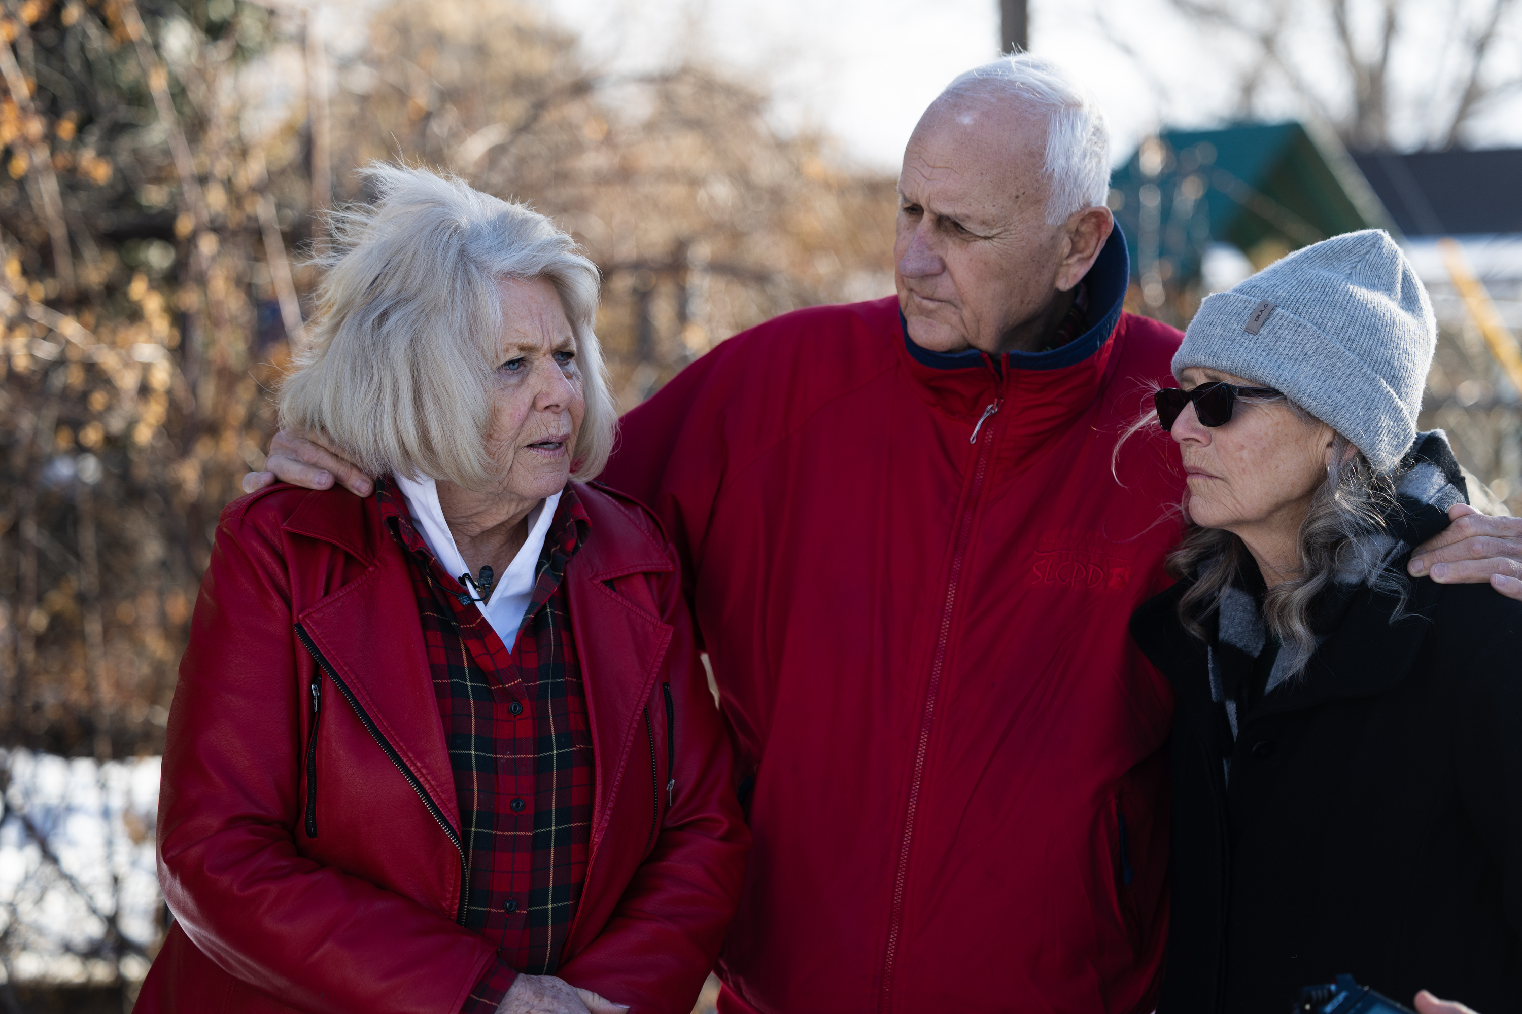
[[[1301,420],[1321,423],[1291,398],[1237,398],[1239,406],[1266,401],[1283,401]],[[1155,423],[1154,409],[1132,424],[1122,441],[1152,429]],[[1312,626],[1312,605],[1327,585],[1367,584],[1397,599],[1391,623],[1405,616],[1402,607],[1409,585],[1405,575],[1387,567],[1396,540],[1385,517],[1396,506],[1399,479],[1399,471],[1379,471],[1345,436],[1333,435],[1332,465],[1300,523],[1300,573],[1263,596],[1263,626],[1283,645],[1289,678],[1301,677],[1317,651],[1320,640]],[[1243,570],[1254,566],[1253,555],[1231,532],[1189,521],[1187,497],[1181,508],[1184,538],[1167,556],[1167,573],[1178,581],[1193,579],[1178,602],[1178,616],[1184,629],[1199,640],[1210,640],[1205,620],[1219,611],[1233,585],[1240,587]]]

